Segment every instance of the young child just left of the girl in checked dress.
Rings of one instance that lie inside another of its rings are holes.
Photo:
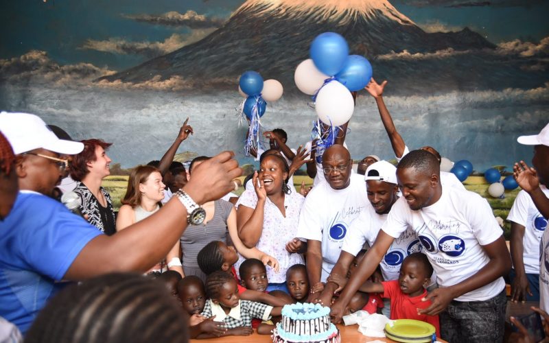
[[[202,311],[206,304],[206,291],[204,283],[198,276],[185,276],[177,283],[177,291],[181,300],[181,306],[189,314],[189,326],[191,338],[197,338],[198,335],[211,335],[220,337],[226,333],[222,322],[215,322],[215,316],[206,318],[202,316]]]

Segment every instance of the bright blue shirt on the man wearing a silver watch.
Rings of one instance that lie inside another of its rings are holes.
[[[102,233],[63,204],[21,191],[0,221],[0,316],[25,333],[38,311],[67,283],[63,276]]]

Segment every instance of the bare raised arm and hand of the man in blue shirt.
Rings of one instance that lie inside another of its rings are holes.
[[[183,190],[198,204],[219,199],[233,189],[233,178],[242,174],[233,152],[222,152],[202,162]],[[119,231],[89,241],[64,276],[89,279],[109,272],[146,272],[163,259],[187,227],[187,210],[177,197],[159,211]]]

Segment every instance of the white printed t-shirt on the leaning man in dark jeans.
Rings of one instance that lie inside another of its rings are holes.
[[[382,230],[397,238],[407,228],[417,233],[440,287],[456,285],[476,274],[489,262],[482,246],[502,235],[488,202],[477,193],[454,187],[443,187],[439,201],[418,211],[412,211],[406,199],[397,200]],[[487,300],[504,287],[500,277],[455,300]]]

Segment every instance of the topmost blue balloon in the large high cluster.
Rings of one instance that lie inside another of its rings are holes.
[[[339,73],[347,62],[349,45],[340,34],[325,32],[314,38],[309,54],[319,71],[333,76]]]

